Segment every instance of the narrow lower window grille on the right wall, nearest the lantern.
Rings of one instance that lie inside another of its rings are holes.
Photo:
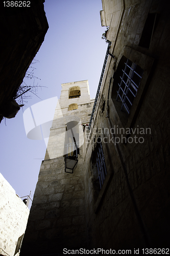
[[[100,182],[100,188],[102,188],[102,185],[104,183],[104,180],[105,180],[105,177],[107,174],[106,164],[105,164],[105,156],[103,153],[102,143],[100,143],[99,150],[97,152],[96,166],[98,167],[98,174],[99,174],[98,178],[99,178],[99,182]]]

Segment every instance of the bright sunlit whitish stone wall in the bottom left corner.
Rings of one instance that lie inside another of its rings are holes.
[[[13,256],[18,238],[25,233],[30,210],[2,174],[0,195],[0,254]]]

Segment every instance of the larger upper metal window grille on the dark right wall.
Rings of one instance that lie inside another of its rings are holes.
[[[122,101],[120,110],[123,111],[125,109],[129,114],[133,100],[137,94],[143,70],[129,59],[124,64],[124,69],[122,69],[120,74],[116,100],[118,101],[120,99]]]

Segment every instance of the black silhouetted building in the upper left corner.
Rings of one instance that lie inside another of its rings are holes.
[[[13,99],[47,32],[44,2],[1,3],[0,122],[18,110]]]

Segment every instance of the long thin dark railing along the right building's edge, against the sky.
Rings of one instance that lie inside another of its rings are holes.
[[[92,112],[91,112],[91,117],[90,117],[90,121],[89,121],[89,129],[91,127],[91,122],[92,122],[93,115],[94,115],[94,112],[95,112],[95,106],[96,106],[97,101],[98,101],[98,96],[99,96],[99,92],[100,92],[100,89],[101,89],[101,84],[102,84],[103,75],[104,75],[105,68],[106,68],[106,63],[107,63],[107,58],[108,58],[108,55],[109,55],[110,46],[111,46],[111,42],[109,41],[109,44],[108,44],[108,47],[107,47],[107,51],[106,51],[105,60],[104,60],[104,64],[103,64],[103,69],[102,69],[102,73],[101,73],[101,78],[100,78],[100,81],[99,81],[98,91],[96,92],[96,96],[95,96],[95,100],[94,100],[94,105],[93,105],[93,109],[92,109]]]

